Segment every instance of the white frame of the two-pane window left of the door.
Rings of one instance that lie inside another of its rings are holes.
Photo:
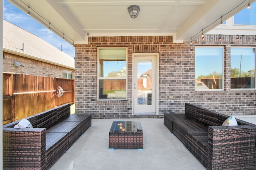
[[[126,49],[126,76],[125,77],[99,77],[99,49]],[[110,101],[110,100],[127,100],[128,95],[128,76],[127,76],[127,66],[128,66],[128,47],[97,47],[97,100],[99,101]],[[126,80],[126,98],[125,99],[100,99],[99,98],[99,80]]]

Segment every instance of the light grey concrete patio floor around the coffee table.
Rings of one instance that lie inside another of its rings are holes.
[[[113,121],[140,121],[143,150],[108,149]],[[206,170],[164,126],[164,119],[92,119],[86,130],[50,170]]]

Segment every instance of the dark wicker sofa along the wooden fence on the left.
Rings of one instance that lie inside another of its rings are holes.
[[[27,117],[33,128],[3,126],[3,167],[48,170],[91,126],[92,115],[70,115],[70,104]]]

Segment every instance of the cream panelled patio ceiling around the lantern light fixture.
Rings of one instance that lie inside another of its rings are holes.
[[[29,6],[32,18],[60,37],[64,33],[71,44],[87,43],[88,36],[131,35],[173,35],[174,42],[183,42],[198,38],[202,29],[207,33],[220,24],[221,16],[225,21],[248,4],[248,0],[9,1],[26,13]],[[128,14],[130,5],[140,6],[135,19]]]

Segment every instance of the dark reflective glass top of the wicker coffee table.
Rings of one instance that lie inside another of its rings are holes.
[[[140,121],[113,121],[110,133],[140,133],[142,127]]]

